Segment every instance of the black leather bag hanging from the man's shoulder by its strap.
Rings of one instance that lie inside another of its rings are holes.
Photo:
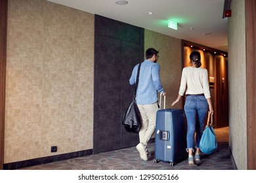
[[[123,119],[122,119],[122,124],[125,126],[125,130],[127,132],[132,132],[132,133],[139,133],[141,122],[142,122],[141,116],[140,116],[140,110],[136,103],[136,92],[137,92],[137,86],[139,83],[140,65],[141,63],[139,64],[139,67],[138,67],[133,101],[131,102],[131,105],[129,106],[129,108],[125,111],[125,114],[123,115]]]

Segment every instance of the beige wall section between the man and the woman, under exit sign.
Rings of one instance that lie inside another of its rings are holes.
[[[167,92],[166,107],[171,108],[171,103],[178,96],[181,83],[181,39],[145,29],[144,52],[150,47],[159,50],[160,58],[158,63],[160,64],[161,82],[164,90]],[[180,101],[175,105],[175,108],[183,108],[182,102]]]

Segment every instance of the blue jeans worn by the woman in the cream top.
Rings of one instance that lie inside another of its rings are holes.
[[[200,139],[203,134],[203,124],[208,112],[208,103],[204,96],[188,95],[184,105],[186,120],[188,122],[188,132],[186,134],[186,145],[194,152],[194,133],[196,132],[196,146],[199,148]]]

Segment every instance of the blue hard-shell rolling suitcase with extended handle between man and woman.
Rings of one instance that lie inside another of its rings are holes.
[[[173,166],[175,163],[188,158],[188,153],[186,152],[186,128],[184,110],[177,108],[165,109],[165,104],[164,109],[158,110],[156,113],[154,163],[164,161]]]

